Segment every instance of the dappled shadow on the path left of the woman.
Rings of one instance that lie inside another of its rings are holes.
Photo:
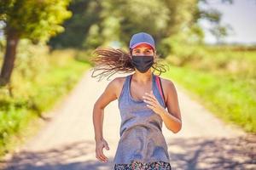
[[[91,156],[93,155],[93,156]],[[20,151],[7,163],[7,170],[73,170],[73,169],[111,169],[113,158],[108,163],[89,160],[88,156],[95,157],[94,142],[75,142],[65,144],[59,148],[44,151]],[[4,163],[4,162],[2,162]]]

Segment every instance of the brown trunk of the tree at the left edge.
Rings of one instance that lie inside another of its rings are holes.
[[[6,50],[3,59],[3,66],[0,74],[0,87],[10,82],[10,77],[15,65],[16,48],[19,36],[14,29],[7,31]]]

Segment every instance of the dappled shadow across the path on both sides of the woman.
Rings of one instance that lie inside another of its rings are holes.
[[[236,139],[174,138],[167,141],[172,169],[255,169],[255,136]],[[21,151],[7,162],[7,169],[79,170],[112,169],[95,159],[94,142],[80,141],[44,151]],[[88,159],[90,157],[90,159]],[[4,162],[2,162],[4,163]]]

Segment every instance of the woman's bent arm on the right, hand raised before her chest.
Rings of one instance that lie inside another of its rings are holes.
[[[182,120],[178,105],[177,91],[174,84],[170,81],[166,82],[165,94],[168,111],[159,104],[152,91],[150,94],[146,93],[144,99],[146,99],[145,102],[149,104],[148,107],[161,116],[166,128],[173,133],[177,133],[182,127]]]

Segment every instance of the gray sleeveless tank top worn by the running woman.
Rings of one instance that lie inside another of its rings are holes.
[[[125,83],[118,99],[121,115],[120,139],[114,156],[115,164],[129,164],[131,161],[148,163],[169,162],[166,140],[162,134],[162,119],[148,108],[143,100],[131,97],[131,76]],[[152,90],[160,105],[166,108],[152,72]]]

